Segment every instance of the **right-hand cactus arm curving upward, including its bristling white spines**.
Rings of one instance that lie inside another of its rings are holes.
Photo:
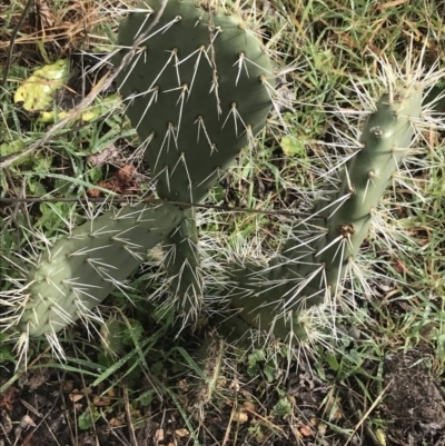
[[[337,147],[332,145],[342,158],[336,166],[326,161],[328,187],[317,194],[310,215],[294,225],[281,251],[266,267],[255,262],[231,266],[231,308],[251,327],[290,343],[301,340],[313,336],[306,325],[307,311],[322,304],[335,307],[345,278],[353,278],[352,284],[362,279],[362,289],[369,293],[366,274],[357,262],[358,250],[369,226],[374,230],[378,226],[380,198],[392,181],[399,180],[399,163],[418,151],[422,122],[432,125],[422,102],[443,76],[441,71],[424,76],[421,62],[407,62],[404,72],[383,61],[386,93],[376,102],[355,86],[370,108],[364,129],[359,133],[349,125],[346,129],[353,136],[337,141]],[[344,120],[348,123],[350,117],[344,115]],[[433,127],[441,125],[435,119]]]

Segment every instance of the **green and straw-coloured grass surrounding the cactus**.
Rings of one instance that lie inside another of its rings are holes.
[[[13,103],[17,88],[44,63],[71,54],[71,71],[79,79],[86,65],[96,65],[90,54],[78,56],[80,51],[110,50],[119,17],[130,4],[118,0],[36,4],[21,24],[24,1],[0,6],[0,79],[7,80],[0,90],[0,143],[8,150],[1,155],[24,147],[28,151],[13,163],[1,159],[8,166],[0,175],[0,289],[3,296],[10,291],[11,298],[14,283],[23,284],[21,272],[29,259],[73,225],[100,212],[103,201],[154,196],[121,103],[117,99],[101,108],[105,99],[92,100],[107,81],[102,78],[107,70],[96,70],[81,81],[71,79],[48,110],[55,111],[53,122],[39,122],[36,113]],[[293,97],[296,101],[293,111],[283,106],[281,117],[269,117],[255,151],[241,155],[215,188],[207,204],[221,208],[198,211],[209,290],[221,277],[216,252],[224,251],[227,259],[247,251],[260,260],[269,258],[295,222],[289,210],[307,210],[308,196],[322,189],[320,172],[336,162],[326,161],[325,145],[345,130],[334,103],[359,105],[360,98],[350,95],[350,79],[377,88],[376,57],[400,61],[412,41],[415,54],[426,49],[427,67],[436,60],[438,68],[444,66],[441,2],[277,0],[257,8],[263,30],[275,38],[274,50],[289,68],[279,102],[288,103]],[[113,93],[112,85],[106,92]],[[60,118],[72,103],[80,115],[98,106],[98,115],[92,120]],[[283,126],[289,129],[284,137]],[[274,343],[245,349],[209,336],[211,326],[191,330],[180,323],[171,325],[171,314],[159,309],[165,276],[158,270],[160,254],[154,251],[125,293],[113,291],[100,308],[107,324],[117,320],[118,328],[70,327],[60,335],[63,361],[38,339],[29,345],[28,370],[16,368],[17,334],[8,328],[0,335],[0,407],[9,410],[17,426],[24,409],[10,396],[11,389],[21,389],[22,399],[30,388],[36,398],[43,398],[42,407],[36,407],[44,409],[43,427],[28,432],[34,444],[42,438],[55,445],[82,444],[88,435],[96,444],[131,446],[407,444],[406,430],[385,405],[389,392],[385,367],[399,351],[421,349],[443,388],[441,131],[423,133],[426,150],[404,166],[408,174],[388,187],[360,251],[366,288],[354,281],[354,287],[347,285],[355,291],[354,300],[346,293],[344,301],[308,316],[325,327],[317,329],[312,345],[290,348]],[[125,175],[129,165],[135,167],[132,177]],[[150,295],[158,299],[147,301]],[[10,301],[3,297],[3,313],[11,308]],[[204,338],[208,357],[200,356]],[[46,378],[39,381],[39,374]],[[62,419],[48,409],[46,395],[55,389],[67,409],[69,434],[60,428],[59,438],[47,438],[47,417]],[[97,405],[98,397],[107,404]],[[443,430],[425,435],[425,442],[433,444],[428,442],[444,435]],[[13,443],[12,430],[3,428],[0,436]]]

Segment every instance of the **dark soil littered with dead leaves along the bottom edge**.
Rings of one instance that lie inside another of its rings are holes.
[[[251,397],[257,394],[258,384],[261,379],[264,383],[264,377],[247,384],[247,377],[240,376],[244,385],[238,398],[239,402],[245,402],[241,407],[245,422],[239,425],[233,419],[236,399],[234,395],[230,404],[228,399],[222,398],[219,403],[212,402],[217,403],[218,407],[214,404],[207,405],[202,414],[204,419],[198,422],[194,420],[190,412],[192,395],[186,390],[187,395],[180,396],[180,402],[190,416],[194,428],[199,432],[201,445],[334,446],[348,442],[350,446],[382,446],[383,444],[378,443],[366,424],[359,437],[355,435],[349,438],[340,432],[332,430],[327,433],[328,435],[318,437],[322,427],[325,426],[326,429],[326,424],[323,422],[326,417],[324,402],[332,388],[333,377],[327,377],[327,381],[322,380],[314,375],[308,363],[303,363],[296,365],[294,373],[287,379],[287,394],[296,402],[290,419],[273,416],[273,407],[277,404],[273,383],[263,390],[266,392],[266,396],[263,395],[261,408],[255,408],[251,403],[246,403],[248,399],[256,399]],[[377,416],[373,414],[386,423],[385,446],[445,445],[444,393],[429,364],[433,364],[433,355],[426,348],[400,353],[385,361],[383,404],[375,409]],[[370,370],[372,368],[368,371]],[[4,373],[1,375],[0,385],[3,385],[11,376]],[[184,385],[186,381],[181,383],[179,387],[186,388],[187,385]],[[335,410],[335,424],[352,430],[357,426],[360,419],[357,414],[364,413],[364,407],[358,400],[353,402],[354,392],[346,383],[342,385],[344,392],[336,399],[338,407]],[[227,388],[231,388],[230,386],[227,383]],[[146,390],[149,385],[141,381],[140,387]],[[184,418],[174,402],[154,403],[150,408],[142,408],[135,405],[134,400],[127,399],[127,405],[123,404],[128,396],[121,393],[99,398],[100,394],[103,395],[103,388],[91,387],[86,377],[60,373],[46,368],[42,364],[36,371],[22,375],[0,395],[0,445],[185,446],[192,444]],[[377,398],[377,392],[374,396]],[[91,409],[96,414],[101,413],[102,416],[99,416],[95,427],[80,428],[82,424],[79,419],[85,419]],[[127,423],[130,413],[134,422],[139,418],[139,422],[131,426]],[[265,423],[270,429],[264,430],[269,432],[267,436],[261,436],[256,429]],[[276,435],[271,434],[273,430]],[[299,436],[298,443],[296,436]],[[317,437],[323,438],[323,442],[317,443]]]

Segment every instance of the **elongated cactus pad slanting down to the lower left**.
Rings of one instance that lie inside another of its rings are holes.
[[[56,242],[28,276],[28,303],[19,329],[55,334],[99,305],[181,219],[171,205],[108,211]]]

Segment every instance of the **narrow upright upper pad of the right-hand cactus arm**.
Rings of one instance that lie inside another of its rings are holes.
[[[340,199],[335,207],[326,207],[328,202],[316,205],[324,207],[313,224],[326,230],[326,235],[313,244],[313,252],[301,257],[300,262],[313,262],[307,274],[315,274],[319,266],[323,270],[314,275],[314,279],[301,290],[301,296],[319,294],[317,281],[323,280],[335,294],[338,281],[343,278],[348,261],[356,258],[366,238],[372,220],[372,211],[377,208],[388,182],[397,170],[397,166],[411,145],[414,135],[413,120],[419,118],[422,111],[422,89],[399,88],[393,98],[384,95],[376,103],[367,119],[359,142],[363,148],[350,159],[340,174],[343,182],[332,202]],[[342,201],[342,198],[344,200]],[[336,242],[338,240],[338,242]],[[339,244],[343,248],[339,250]],[[288,258],[296,259],[303,250],[294,249],[296,242],[290,241],[284,250]],[[301,270],[299,270],[301,274]]]

